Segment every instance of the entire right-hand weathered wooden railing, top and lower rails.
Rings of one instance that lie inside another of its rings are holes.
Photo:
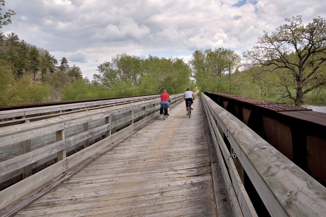
[[[272,217],[325,216],[322,184],[206,95],[202,100],[235,216],[257,216],[236,161]]]

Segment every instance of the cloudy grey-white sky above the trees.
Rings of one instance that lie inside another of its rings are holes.
[[[326,19],[325,0],[5,0],[15,11],[0,32],[79,66],[92,80],[117,54],[182,58],[219,47],[240,56],[285,18]]]

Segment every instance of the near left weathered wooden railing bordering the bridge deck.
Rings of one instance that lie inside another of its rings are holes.
[[[171,107],[183,101],[182,94],[170,98]],[[115,145],[156,118],[159,110],[160,99],[154,99],[0,128],[0,152],[5,156],[0,161],[0,180],[25,178],[0,191],[0,210]],[[19,153],[12,155],[14,150]]]

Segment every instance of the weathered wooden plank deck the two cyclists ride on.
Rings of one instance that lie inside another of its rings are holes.
[[[16,216],[218,216],[201,100],[190,119],[179,104]]]

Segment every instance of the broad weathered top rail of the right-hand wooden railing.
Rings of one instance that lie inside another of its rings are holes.
[[[213,108],[217,122],[272,216],[321,216],[326,213],[325,187],[236,117],[208,97],[203,98]]]

